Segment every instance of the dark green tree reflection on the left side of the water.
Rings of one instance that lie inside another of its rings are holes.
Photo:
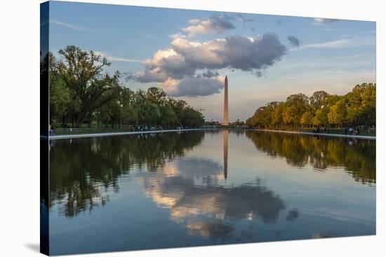
[[[108,188],[118,192],[119,178],[131,169],[156,172],[202,139],[204,132],[56,140],[50,146],[50,207],[60,202],[65,216],[92,211],[109,201]]]

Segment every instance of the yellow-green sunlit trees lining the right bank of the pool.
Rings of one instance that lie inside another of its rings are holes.
[[[376,84],[356,85],[346,95],[317,91],[311,97],[300,93],[285,102],[259,107],[246,124],[262,128],[310,128],[364,125],[375,126]]]

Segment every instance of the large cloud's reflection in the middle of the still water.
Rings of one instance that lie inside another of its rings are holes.
[[[222,237],[239,220],[274,223],[284,201],[272,190],[252,183],[227,186],[223,167],[202,158],[177,159],[164,166],[161,176],[144,176],[145,192],[170,218],[185,224],[191,235]]]

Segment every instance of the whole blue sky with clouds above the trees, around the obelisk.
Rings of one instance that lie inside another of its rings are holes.
[[[207,120],[222,120],[225,75],[231,121],[298,92],[375,83],[375,22],[51,1],[50,50],[72,44],[107,57],[125,86],[164,88]]]

